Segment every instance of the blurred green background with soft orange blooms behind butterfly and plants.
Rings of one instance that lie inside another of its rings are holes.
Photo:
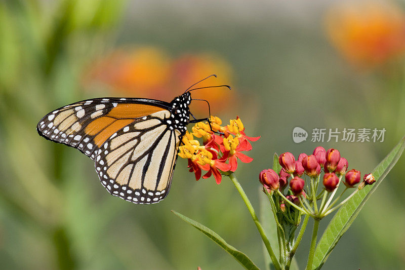
[[[86,98],[170,101],[217,73],[206,84],[232,91],[194,97],[208,98],[224,124],[239,115],[248,135],[262,136],[248,153],[255,160],[237,171],[258,210],[258,173],[274,152],[334,147],[362,173],[385,157],[405,134],[404,52],[402,1],[1,1],[0,268],[240,268],[171,209],[263,267],[260,236],[226,178],[196,182],[179,160],[169,197],[134,205],[108,195],[90,159],[39,137],[37,122]],[[207,114],[204,103],[192,110]],[[386,133],[383,142],[314,143],[309,134],[296,144],[297,126]],[[405,269],[404,161],[325,269]],[[296,255],[302,267],[308,246],[307,235]]]

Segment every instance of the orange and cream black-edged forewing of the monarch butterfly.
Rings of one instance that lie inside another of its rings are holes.
[[[127,99],[100,98],[76,102],[48,113],[38,124],[47,139],[75,147],[94,159],[94,152],[115,131],[164,108]]]

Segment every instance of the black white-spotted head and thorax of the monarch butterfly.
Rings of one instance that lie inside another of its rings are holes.
[[[179,131],[186,132],[187,124],[190,121],[190,110],[188,106],[191,103],[191,94],[186,92],[171,102],[172,115],[170,120],[170,127]]]

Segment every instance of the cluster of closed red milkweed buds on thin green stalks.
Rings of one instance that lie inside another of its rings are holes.
[[[286,205],[289,205],[294,207],[292,211],[298,209],[313,217],[321,218],[343,205],[359,189],[375,182],[372,174],[366,174],[363,182],[354,192],[332,208],[343,193],[348,188],[355,187],[361,179],[361,173],[358,170],[347,171],[349,163],[341,157],[337,149],[325,150],[318,146],[313,150],[312,155],[301,153],[297,160],[292,153],[285,152],[278,157],[278,163],[281,167],[278,173],[272,169],[263,170],[259,174],[259,181],[269,194],[275,194],[278,197],[276,203],[282,212],[285,212]],[[291,180],[289,180],[290,177]],[[323,188],[317,193],[319,182],[322,182]],[[343,182],[346,188],[332,202],[340,182]],[[322,200],[318,206],[317,201],[320,199]]]

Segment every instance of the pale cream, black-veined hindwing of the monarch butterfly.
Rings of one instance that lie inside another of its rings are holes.
[[[95,167],[113,196],[137,204],[157,203],[169,192],[179,146],[170,113],[147,115],[120,129],[96,152]]]

